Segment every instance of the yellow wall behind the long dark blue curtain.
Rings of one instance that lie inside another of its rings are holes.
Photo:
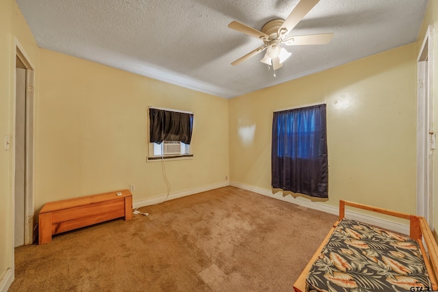
[[[271,190],[272,112],[326,101],[325,204],[346,199],[415,213],[415,53],[408,44],[232,98],[231,181]]]

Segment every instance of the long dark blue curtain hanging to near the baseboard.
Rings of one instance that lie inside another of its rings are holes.
[[[274,112],[272,187],[328,198],[326,105]]]

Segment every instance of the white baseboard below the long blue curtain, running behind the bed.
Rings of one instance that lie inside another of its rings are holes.
[[[230,182],[230,185],[232,187],[238,187],[240,189],[246,189],[247,191],[253,191],[254,193],[261,194],[263,196],[269,196],[271,198],[276,198],[285,202],[292,202],[294,204],[298,204],[302,207],[307,207],[310,209],[316,209],[319,211],[323,211],[326,213],[331,213],[334,215],[339,215],[339,207],[333,207],[329,206],[327,204],[322,204],[320,202],[311,202],[307,199],[302,198],[294,198],[292,196],[284,196],[281,191],[279,191],[276,194],[272,194],[272,191],[269,191],[267,189],[261,189],[259,187],[252,187],[250,185],[244,185],[243,183],[236,183],[234,181]],[[373,217],[370,215],[365,215],[361,213],[356,213],[352,211],[345,211],[346,217],[352,220],[357,220],[360,222],[365,222],[368,224],[376,225],[381,228],[385,228],[387,230],[393,230],[398,233],[402,233],[404,235],[409,235],[409,225],[407,224],[400,224],[398,222],[393,222],[385,219],[381,219],[378,217]]]

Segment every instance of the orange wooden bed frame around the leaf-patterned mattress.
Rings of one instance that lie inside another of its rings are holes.
[[[365,204],[358,204],[355,202],[348,202],[345,200],[339,200],[339,221],[342,220],[342,218],[345,217],[345,207],[355,207],[363,210],[373,211],[376,213],[382,213],[385,215],[391,215],[394,217],[399,217],[403,219],[409,220],[409,237],[411,239],[414,239],[417,241],[417,243],[420,245],[420,249],[423,254],[424,263],[426,264],[426,269],[429,274],[430,282],[432,283],[432,287],[429,287],[430,290],[438,290],[438,245],[435,241],[435,238],[433,237],[432,232],[430,231],[430,228],[426,222],[426,218],[420,217],[417,215],[410,215],[406,213],[400,213],[396,211],[390,211],[387,209],[381,209],[377,207],[368,206]],[[307,274],[309,274],[309,271],[311,269],[311,266],[316,261],[318,256],[320,256],[320,253],[322,251],[322,248],[324,248],[324,245],[326,245],[327,241],[329,241],[330,236],[332,235],[333,231],[335,230],[337,224],[339,221],[335,222],[333,227],[331,228],[328,235],[326,235],[324,241],[322,241],[320,247],[318,250],[316,250],[315,254],[313,254],[312,258],[310,259],[309,263],[305,267],[305,269],[302,271],[296,282],[294,283],[294,291],[295,292],[305,292],[306,291],[306,278]],[[426,249],[423,245],[423,242],[426,245]],[[426,252],[426,250],[428,252]]]

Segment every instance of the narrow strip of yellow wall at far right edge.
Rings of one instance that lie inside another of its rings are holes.
[[[437,1],[429,1],[426,14],[424,16],[423,24],[420,29],[420,34],[418,34],[417,40],[417,55],[420,53],[424,37],[426,36],[426,30],[429,25],[433,25],[433,67],[438,68],[438,3]],[[438,86],[438,74],[433,72],[433,86],[437,88]],[[433,103],[434,103],[434,114],[433,114],[433,124],[438,124],[438,93],[437,90],[433,93]],[[437,131],[436,126],[435,132]],[[435,187],[433,190],[433,235],[438,241],[438,152],[435,150],[433,152],[433,168],[434,168],[434,181]]]

